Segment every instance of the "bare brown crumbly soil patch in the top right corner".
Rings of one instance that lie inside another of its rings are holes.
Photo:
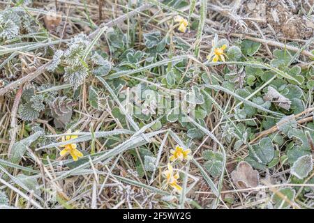
[[[241,16],[256,19],[260,28],[276,31],[277,37],[308,39],[314,36],[313,15],[306,16],[313,3],[314,0],[244,0]],[[248,26],[255,29],[250,23]]]

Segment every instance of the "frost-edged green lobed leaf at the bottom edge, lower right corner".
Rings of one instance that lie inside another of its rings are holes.
[[[271,197],[271,201],[275,204],[275,208],[290,208],[290,202],[294,202],[295,190],[290,187],[278,190],[278,192],[285,198],[281,197],[278,193],[274,193]]]

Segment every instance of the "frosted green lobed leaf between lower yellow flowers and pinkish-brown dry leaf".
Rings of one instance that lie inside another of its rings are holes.
[[[223,155],[219,152],[204,151],[203,155],[207,162],[204,163],[204,168],[211,176],[220,176],[223,171]]]

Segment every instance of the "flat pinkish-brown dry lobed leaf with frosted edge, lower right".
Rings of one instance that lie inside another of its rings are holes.
[[[232,171],[231,178],[239,189],[257,187],[260,184],[258,171],[253,170],[245,161],[239,162],[237,170]]]

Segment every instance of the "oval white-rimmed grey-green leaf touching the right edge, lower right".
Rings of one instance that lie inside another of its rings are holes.
[[[303,179],[312,171],[313,159],[311,155],[304,155],[294,162],[291,168],[291,174],[297,176],[299,179]]]

